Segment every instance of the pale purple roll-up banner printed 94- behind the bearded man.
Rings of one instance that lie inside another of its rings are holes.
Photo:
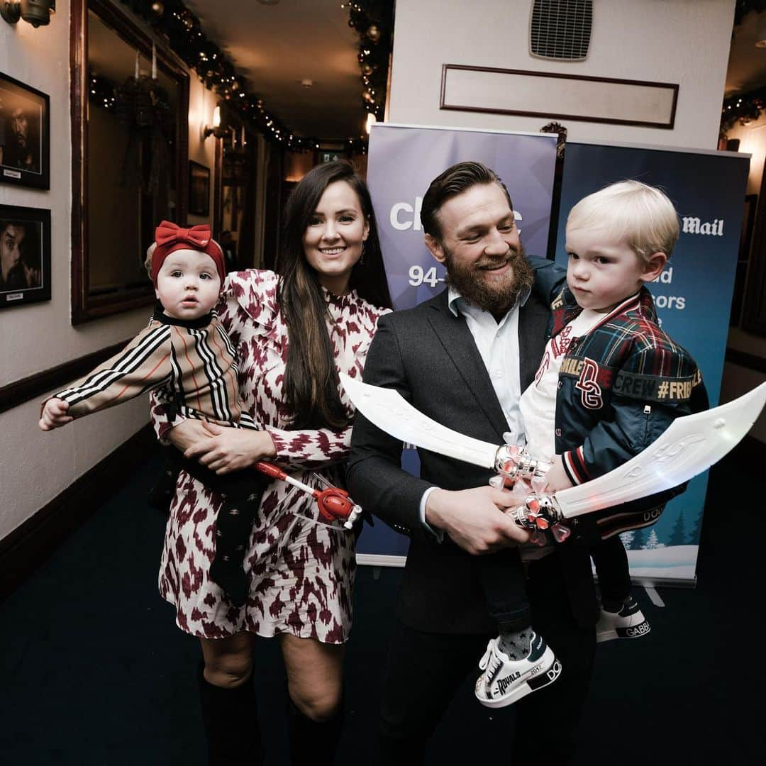
[[[527,252],[545,254],[556,138],[547,133],[372,126],[367,181],[395,308],[411,309],[444,290],[444,267],[424,245],[420,211],[430,182],[455,162],[483,162],[502,178]],[[402,465],[419,473],[414,449],[405,448]],[[408,538],[376,522],[365,525],[356,548],[360,564],[404,565]]]

